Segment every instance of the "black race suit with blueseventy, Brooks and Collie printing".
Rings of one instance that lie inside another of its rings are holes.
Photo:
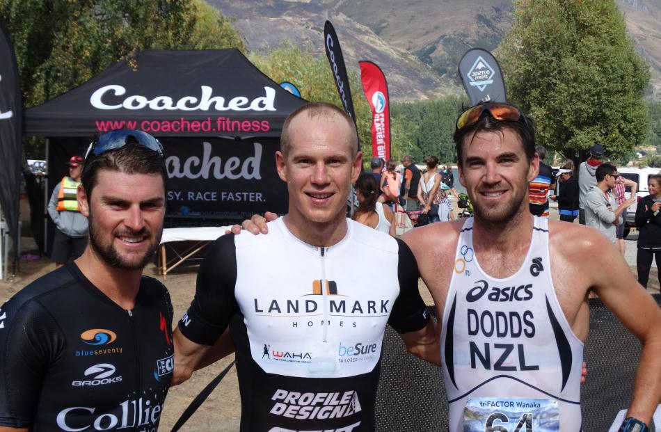
[[[0,426],[155,432],[173,371],[172,305],[143,276],[124,310],[76,264],[0,308]]]

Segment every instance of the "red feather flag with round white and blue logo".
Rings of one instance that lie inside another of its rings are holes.
[[[359,61],[360,81],[372,108],[372,156],[390,159],[390,100],[388,83],[381,67],[371,61]]]

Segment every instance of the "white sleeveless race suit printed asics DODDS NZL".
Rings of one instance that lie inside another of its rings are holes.
[[[583,343],[555,296],[548,220],[534,218],[527,256],[504,279],[480,268],[472,225],[466,218],[443,312],[449,431],[580,431]]]

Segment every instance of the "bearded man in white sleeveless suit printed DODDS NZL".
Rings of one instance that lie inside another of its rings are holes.
[[[529,214],[539,157],[519,109],[473,106],[457,120],[454,142],[475,217],[402,237],[443,323],[449,430],[580,431],[594,291],[642,342],[620,430],[646,431],[661,399],[661,310],[603,234]]]

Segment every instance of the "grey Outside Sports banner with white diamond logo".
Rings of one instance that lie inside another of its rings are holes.
[[[489,51],[473,48],[459,61],[459,78],[471,105],[481,102],[507,103],[500,65]]]

